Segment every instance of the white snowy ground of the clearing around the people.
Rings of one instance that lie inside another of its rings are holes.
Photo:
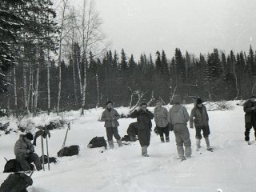
[[[195,131],[190,129],[193,157],[180,162],[177,160],[174,133],[170,133],[170,143],[161,143],[152,132],[149,158],[142,158],[138,142],[114,150],[88,149],[87,144],[95,136],[105,136],[103,122],[98,122],[102,109],[87,110],[84,118],[78,112],[63,114],[69,118],[71,130],[66,146],[79,145],[80,154],[73,157],[58,158],[58,163],[50,164],[50,171],[34,172],[30,192],[113,192],[113,191],[170,191],[170,192],[254,192],[256,191],[256,142],[248,146],[243,141],[244,113],[237,102],[230,102],[233,110],[209,111],[210,142],[214,147],[211,153],[202,148],[202,154],[195,151]],[[186,106],[190,112],[192,106]],[[211,106],[212,107],[212,106]],[[153,110],[153,108],[150,108]],[[126,114],[126,108],[118,108]],[[7,119],[0,121],[4,122]],[[35,122],[47,122],[38,118]],[[33,121],[33,120],[32,120]],[[122,118],[118,128],[121,136],[134,119]],[[39,123],[39,124],[40,124]],[[14,126],[14,122],[11,125]],[[66,129],[52,130],[50,156],[57,156],[61,149]],[[14,142],[19,134],[0,137],[0,165],[6,158],[14,158]],[[254,139],[253,133],[250,137]],[[40,139],[38,139],[40,140]],[[203,146],[204,143],[202,143]],[[40,143],[35,148],[41,155]],[[0,173],[0,183],[8,174]]]

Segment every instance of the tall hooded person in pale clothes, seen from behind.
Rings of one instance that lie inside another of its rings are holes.
[[[186,158],[190,158],[192,154],[190,132],[186,126],[186,123],[190,120],[190,116],[186,108],[180,104],[180,95],[175,94],[173,102],[174,106],[169,110],[168,120],[170,125],[174,127],[178,156],[183,161]],[[185,152],[183,145],[185,146]]]

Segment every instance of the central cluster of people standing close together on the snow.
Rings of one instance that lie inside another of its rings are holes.
[[[137,122],[131,123],[128,130],[134,126],[138,129],[138,140],[142,147],[142,156],[148,157],[147,148],[150,146],[150,131],[152,128],[151,120],[154,118],[158,134],[161,142],[170,142],[170,130],[174,131],[175,140],[178,150],[178,156],[183,161],[190,158],[192,154],[190,132],[187,127],[187,122],[190,121],[190,128],[196,129],[196,146],[199,150],[202,135],[206,140],[206,149],[212,150],[209,142],[210,128],[209,117],[206,111],[206,106],[202,104],[202,99],[198,98],[191,114],[189,115],[186,108],[181,105],[181,97],[176,94],[173,98],[174,105],[168,111],[162,106],[162,101],[157,101],[157,106],[154,108],[154,114],[147,110],[147,104],[142,102],[137,110],[130,114],[130,118],[137,118]],[[117,139],[118,146],[122,146],[121,137],[118,134],[118,118],[120,115],[117,110],[114,110],[112,102],[106,102],[106,110],[102,113],[101,121],[105,122],[106,134],[110,149],[113,149],[113,135]],[[127,132],[129,132],[127,130]],[[134,137],[134,131],[130,131],[130,138]],[[129,133],[128,133],[129,134]],[[131,139],[132,140],[132,139]]]

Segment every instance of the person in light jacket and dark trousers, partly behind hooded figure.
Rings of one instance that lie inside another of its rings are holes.
[[[165,142],[163,134],[166,136],[166,142],[170,142],[169,138],[169,123],[168,123],[168,110],[162,106],[162,101],[157,102],[154,108],[154,122],[158,129],[161,142]]]

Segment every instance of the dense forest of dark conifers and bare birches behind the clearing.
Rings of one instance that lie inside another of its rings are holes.
[[[2,0],[0,5],[0,107],[13,114],[134,106],[174,94],[184,102],[246,99],[255,92],[253,47],[227,54],[214,49],[156,50],[135,60],[110,50],[94,1],[75,10],[50,0]],[[125,38],[125,37],[124,37]],[[125,45],[124,45],[125,46]],[[170,56],[166,56],[166,54]]]

